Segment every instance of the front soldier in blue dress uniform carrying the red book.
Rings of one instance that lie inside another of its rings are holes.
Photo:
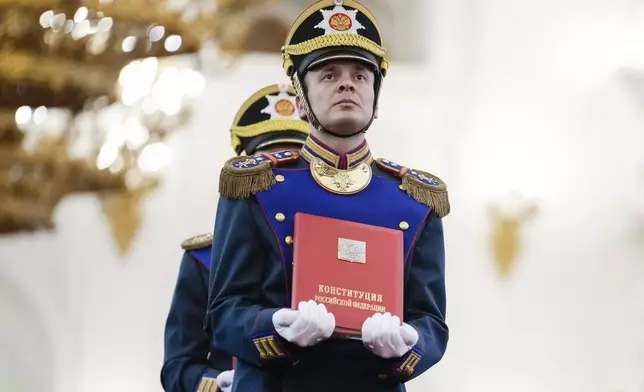
[[[224,165],[207,328],[214,345],[238,360],[234,392],[404,391],[447,347],[446,186],[371,154],[365,133],[387,60],[363,5],[315,2],[291,27],[282,54],[311,135],[297,155],[256,154]],[[340,339],[324,304],[292,304],[296,213],[402,231],[403,320],[375,313],[361,339]]]

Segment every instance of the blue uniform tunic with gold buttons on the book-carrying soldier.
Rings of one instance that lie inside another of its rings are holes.
[[[309,162],[316,158],[340,169],[369,163],[372,179],[351,196],[329,192],[311,174]],[[216,347],[238,358],[233,391],[404,391],[404,382],[443,357],[448,328],[440,216],[445,208],[439,213],[417,199],[430,200],[432,187],[444,184],[428,173],[372,161],[366,142],[340,155],[309,137],[299,157],[273,153],[231,160],[222,171],[207,328]],[[235,193],[235,184],[252,188],[264,181],[268,166],[274,182],[248,197]],[[401,182],[401,176],[410,181]],[[291,307],[297,212],[404,230],[404,321],[418,331],[419,341],[403,357],[383,359],[360,341],[334,338],[300,348],[276,333],[273,314]]]

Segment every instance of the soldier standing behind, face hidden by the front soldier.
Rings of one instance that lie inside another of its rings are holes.
[[[231,128],[236,154],[274,149],[297,151],[309,134],[296,108],[295,90],[288,85],[267,86],[238,110]],[[212,234],[181,244],[184,255],[165,329],[165,360],[161,383],[168,392],[225,391],[232,382],[230,354],[212,349],[204,332]],[[216,346],[215,346],[216,347]]]

